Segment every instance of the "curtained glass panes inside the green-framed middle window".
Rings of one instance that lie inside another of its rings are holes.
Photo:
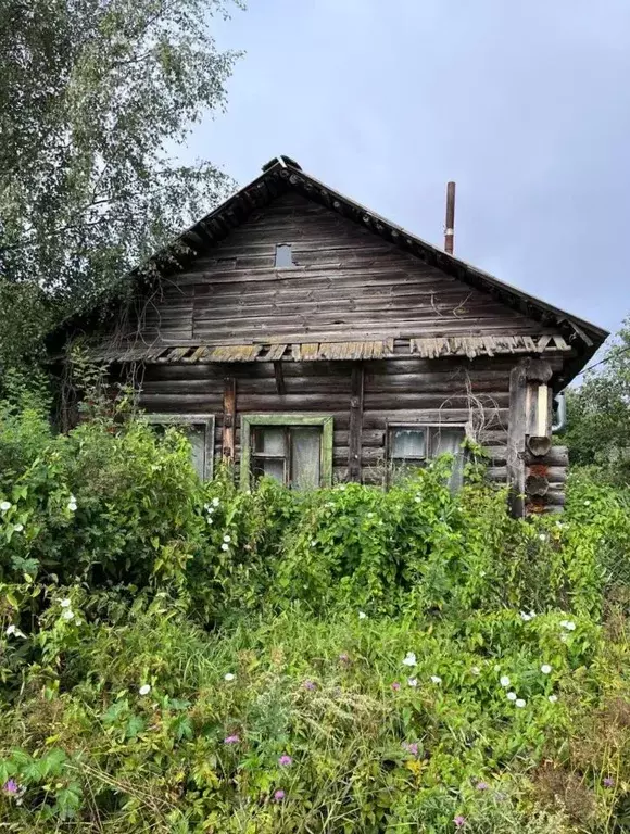
[[[286,486],[319,486],[322,428],[319,426],[256,426],[252,430],[252,475],[267,476]]]

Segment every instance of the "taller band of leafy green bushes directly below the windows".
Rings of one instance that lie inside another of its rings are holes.
[[[453,495],[448,458],[387,492],[273,481],[244,492],[229,472],[201,484],[174,428],[98,418],[54,435],[33,409],[0,419],[0,578],[176,589],[207,623],[297,602],[314,614],[596,614],[603,519],[626,517],[607,500],[593,523],[579,513],[519,523],[482,482]]]

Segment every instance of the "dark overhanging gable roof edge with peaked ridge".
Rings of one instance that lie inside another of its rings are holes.
[[[570,341],[575,352],[575,356],[567,362],[563,379],[558,380],[563,384],[570,381],[584,367],[608,336],[606,330],[596,325],[512,287],[390,223],[306,174],[289,156],[279,156],[268,162],[256,179],[198,220],[148,262],[136,267],[129,274],[129,279],[138,287],[142,287],[151,283],[156,275],[172,275],[186,268],[200,254],[227,238],[232,229],[240,226],[252,214],[272,203],[278,195],[290,191],[337,212],[471,288],[490,293],[507,307],[544,326],[557,326]],[[80,317],[80,323],[85,328],[86,318]],[[72,327],[78,323],[75,319],[68,324]]]

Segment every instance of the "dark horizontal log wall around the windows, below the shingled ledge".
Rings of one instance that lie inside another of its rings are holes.
[[[557,365],[560,359],[550,359]],[[388,421],[472,425],[490,455],[490,475],[505,481],[509,371],[514,358],[472,361],[383,359],[364,367],[361,471],[364,482],[382,482]],[[236,463],[240,462],[243,414],[332,415],[333,475],[348,475],[350,396],[353,363],[284,363],[286,393],[278,394],[272,363],[231,365],[148,365],[140,405],[165,414],[212,414],[216,417],[215,456],[220,458],[223,395],[226,377],[236,379]],[[562,464],[562,460],[560,460]],[[564,471],[552,472],[564,482]]]

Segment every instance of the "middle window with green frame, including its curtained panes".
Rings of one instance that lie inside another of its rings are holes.
[[[332,417],[250,414],[241,421],[241,486],[260,478],[308,490],[332,483]]]

